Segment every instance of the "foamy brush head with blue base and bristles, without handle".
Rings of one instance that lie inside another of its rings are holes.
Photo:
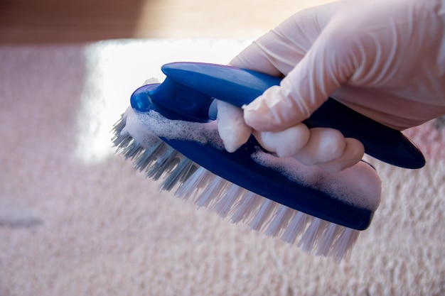
[[[380,179],[368,164],[348,176],[323,174],[267,153],[253,138],[227,153],[215,121],[171,120],[130,107],[114,133],[117,150],[160,180],[161,190],[336,261],[348,257],[380,201]]]

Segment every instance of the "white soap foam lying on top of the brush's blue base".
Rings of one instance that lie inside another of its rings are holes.
[[[196,123],[170,120],[156,111],[139,112],[132,108],[127,110],[125,116],[126,126],[122,133],[129,133],[144,148],[151,146],[155,136],[224,148],[215,121]],[[279,158],[262,151],[254,153],[252,158],[294,182],[316,188],[343,202],[371,211],[375,211],[380,204],[380,178],[366,163],[360,162],[340,172],[326,172],[316,165],[303,165],[294,158]]]

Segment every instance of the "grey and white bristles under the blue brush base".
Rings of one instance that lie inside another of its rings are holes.
[[[252,230],[280,237],[307,253],[338,262],[350,256],[360,231],[299,212],[232,184],[193,163],[159,138],[141,146],[122,132],[124,126],[122,116],[114,125],[112,139],[117,152],[133,160],[134,168],[145,172],[147,177],[163,179],[160,190],[175,189],[176,197],[207,207],[232,223],[243,222]]]

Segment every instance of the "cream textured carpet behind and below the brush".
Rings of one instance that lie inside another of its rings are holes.
[[[0,47],[0,295],[444,295],[445,124],[407,133],[422,170],[374,162],[382,204],[350,261],[196,210],[110,148],[166,62],[226,63],[247,41]]]

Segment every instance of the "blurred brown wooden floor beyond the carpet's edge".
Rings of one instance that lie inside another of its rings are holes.
[[[0,43],[254,38],[332,0],[0,0]]]

